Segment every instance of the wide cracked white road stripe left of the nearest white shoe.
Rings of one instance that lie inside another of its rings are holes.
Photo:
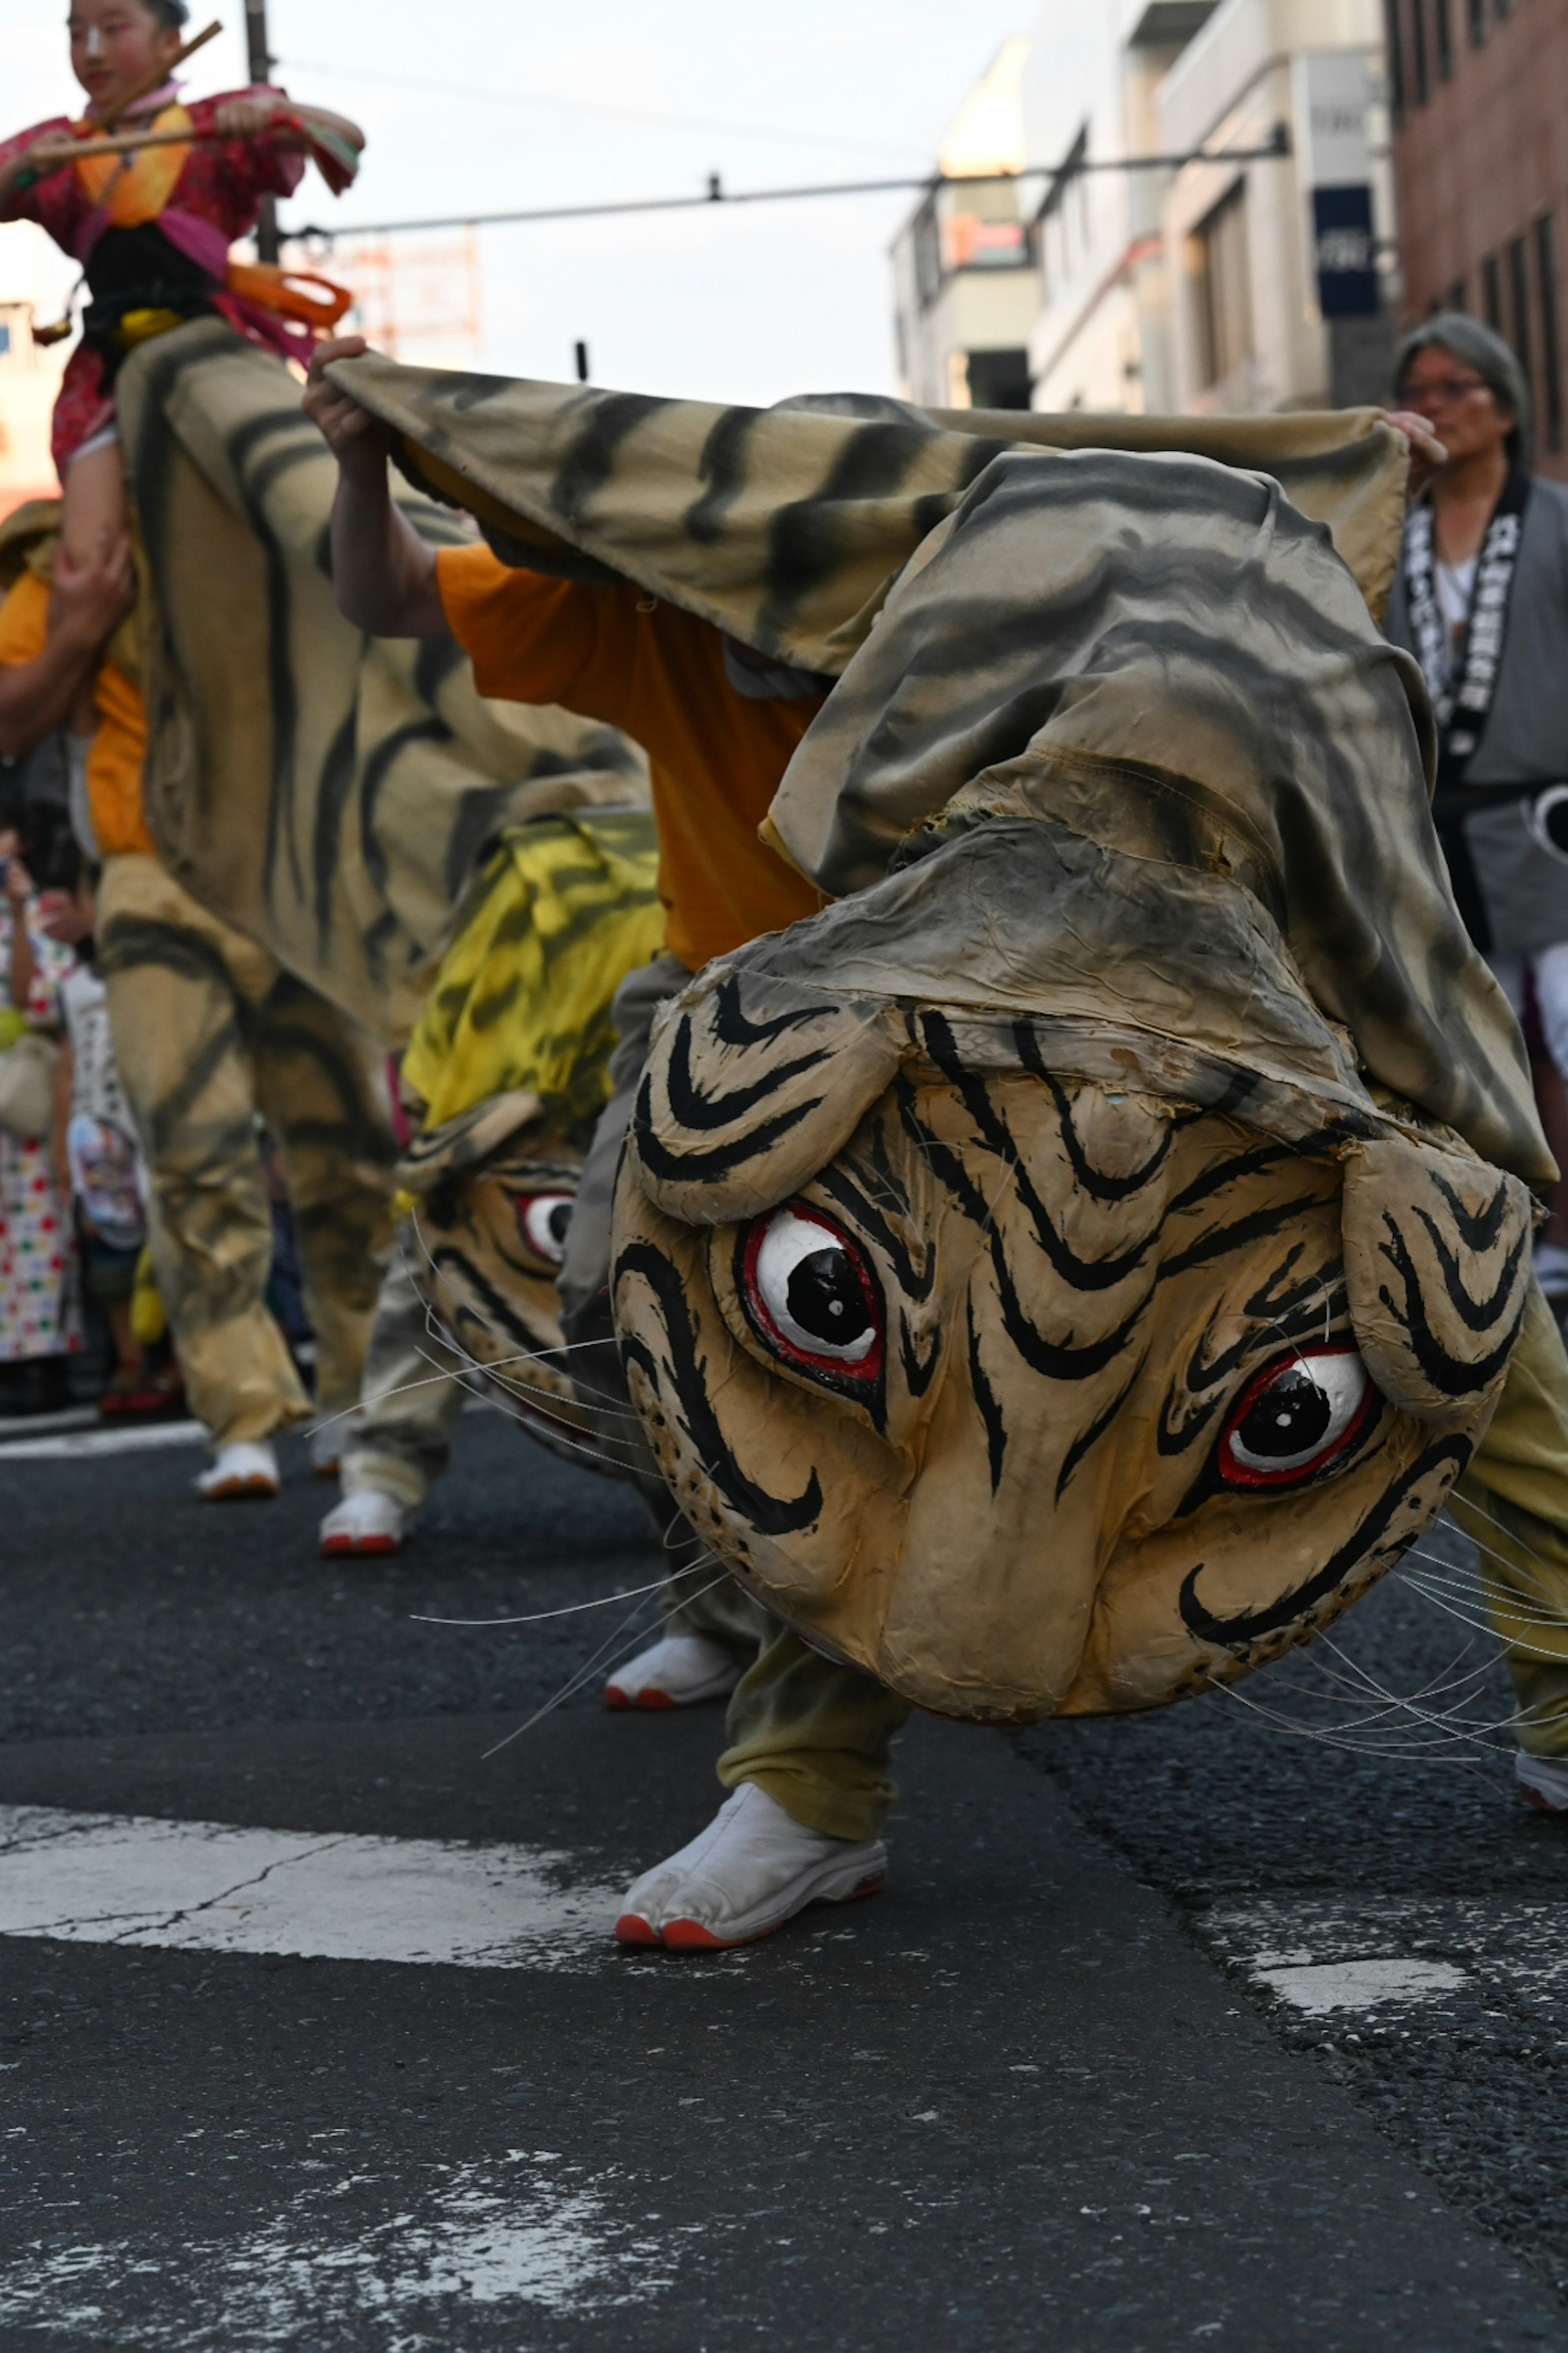
[[[614,1951],[621,1894],[543,1847],[0,1807],[0,1937],[564,1969]]]

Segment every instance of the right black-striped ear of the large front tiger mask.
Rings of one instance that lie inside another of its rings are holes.
[[[1533,1202],[1519,1176],[1385,1136],[1345,1158],[1345,1289],[1378,1388],[1448,1421],[1507,1379],[1530,1289]]]

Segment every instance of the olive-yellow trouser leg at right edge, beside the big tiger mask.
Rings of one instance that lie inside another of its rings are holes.
[[[1535,1285],[1502,1400],[1448,1511],[1481,1553],[1488,1614],[1509,1645],[1519,1746],[1568,1758],[1568,1358]]]

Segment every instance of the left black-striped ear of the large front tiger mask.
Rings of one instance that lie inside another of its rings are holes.
[[[907,1052],[886,1000],[710,967],[654,1031],[630,1134],[642,1191],[689,1226],[771,1209],[851,1139]]]

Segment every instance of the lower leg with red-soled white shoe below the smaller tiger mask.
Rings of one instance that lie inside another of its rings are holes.
[[[418,1297],[409,1224],[397,1228],[364,1355],[360,1412],[341,1457],[343,1501],[322,1520],[327,1553],[395,1553],[447,1468],[468,1395],[465,1362]]]

